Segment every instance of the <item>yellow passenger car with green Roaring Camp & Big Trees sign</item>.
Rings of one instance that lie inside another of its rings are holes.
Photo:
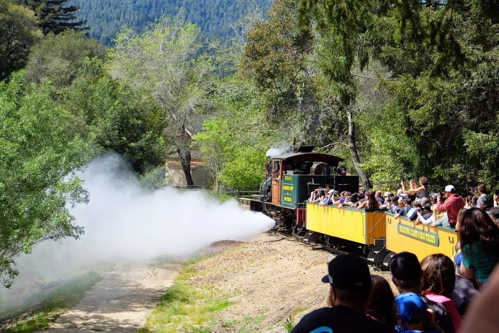
[[[401,216],[386,214],[386,248],[395,253],[409,251],[421,261],[430,254],[443,253],[452,258],[456,254],[458,234],[455,228],[416,225]],[[385,260],[388,263],[389,258]]]

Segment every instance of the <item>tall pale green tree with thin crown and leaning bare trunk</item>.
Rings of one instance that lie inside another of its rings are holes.
[[[200,29],[178,14],[163,17],[141,34],[124,29],[109,55],[111,75],[149,93],[164,111],[165,132],[175,145],[187,185],[193,180],[186,123],[207,103],[214,70],[203,51]]]

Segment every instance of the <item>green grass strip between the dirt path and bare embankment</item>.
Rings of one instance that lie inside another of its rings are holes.
[[[190,279],[196,273],[191,266],[206,258],[193,258],[182,265],[173,285],[147,318],[145,328],[138,332],[211,332],[210,327],[216,323],[215,313],[232,303],[213,286],[191,285]]]

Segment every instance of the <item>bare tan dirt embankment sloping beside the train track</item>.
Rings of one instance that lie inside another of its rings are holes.
[[[285,332],[326,305],[320,279],[333,255],[279,234],[263,234],[191,266],[193,285],[209,284],[233,304],[217,312],[210,332]],[[373,274],[383,273],[377,271]]]

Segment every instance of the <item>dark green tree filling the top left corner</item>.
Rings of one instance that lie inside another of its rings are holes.
[[[26,63],[29,47],[41,39],[34,12],[0,0],[0,80]]]

